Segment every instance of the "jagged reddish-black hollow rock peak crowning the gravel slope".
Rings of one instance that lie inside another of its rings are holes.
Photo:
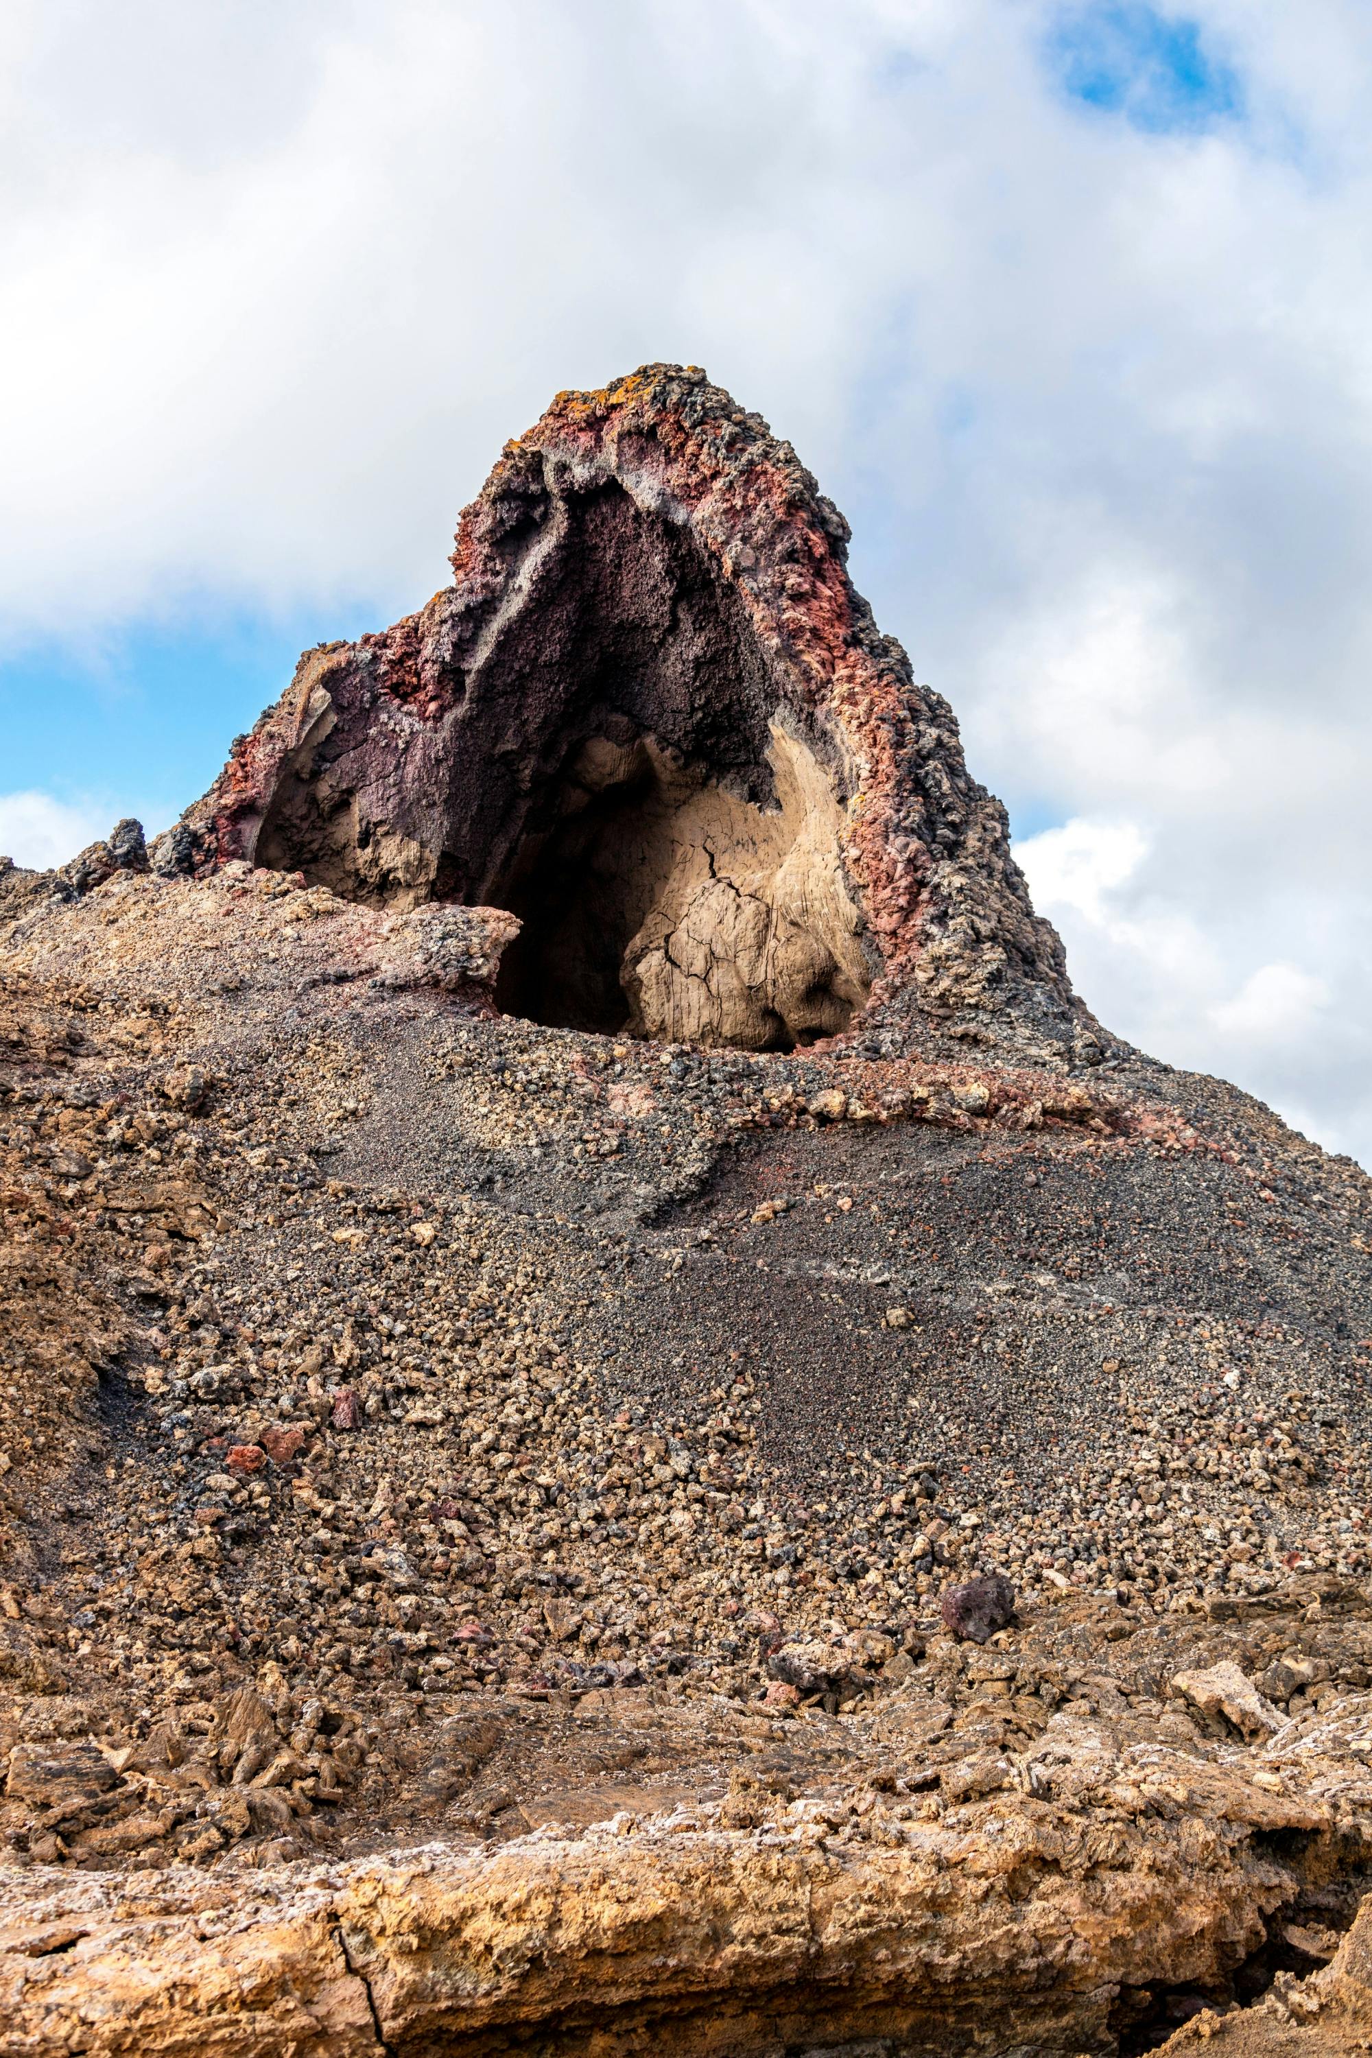
[[[703,370],[559,393],[463,512],[455,582],[309,650],[154,864],[510,910],[498,1000],[564,1027],[1080,1037],[1004,809],[847,537]]]

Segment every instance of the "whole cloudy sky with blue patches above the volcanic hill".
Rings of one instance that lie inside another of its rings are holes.
[[[1372,1163],[1366,0],[8,0],[0,187],[0,850],[163,825],[697,362],[1096,1013]]]

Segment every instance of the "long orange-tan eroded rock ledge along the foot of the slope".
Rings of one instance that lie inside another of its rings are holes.
[[[1197,1786],[1177,1753],[1074,1743],[1078,1807],[911,1819],[868,1788],[753,1830],[679,1807],[257,1877],[0,1877],[4,2050],[1107,2050],[1138,1994],[1224,1982],[1304,1885],[1366,1865],[1362,1830],[1261,1764]]]

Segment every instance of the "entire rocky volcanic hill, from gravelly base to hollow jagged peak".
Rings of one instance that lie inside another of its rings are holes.
[[[562,395],[0,873],[0,2050],[1362,2033],[1368,1181],[1082,1008],[843,537]]]

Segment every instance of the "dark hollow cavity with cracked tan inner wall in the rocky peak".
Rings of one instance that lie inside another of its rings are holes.
[[[372,906],[508,908],[498,1004],[551,1027],[845,1029],[872,965],[839,757],[738,589],[621,486],[549,490],[510,535],[506,601],[436,712],[387,710],[366,671],[321,691],[259,862]]]

